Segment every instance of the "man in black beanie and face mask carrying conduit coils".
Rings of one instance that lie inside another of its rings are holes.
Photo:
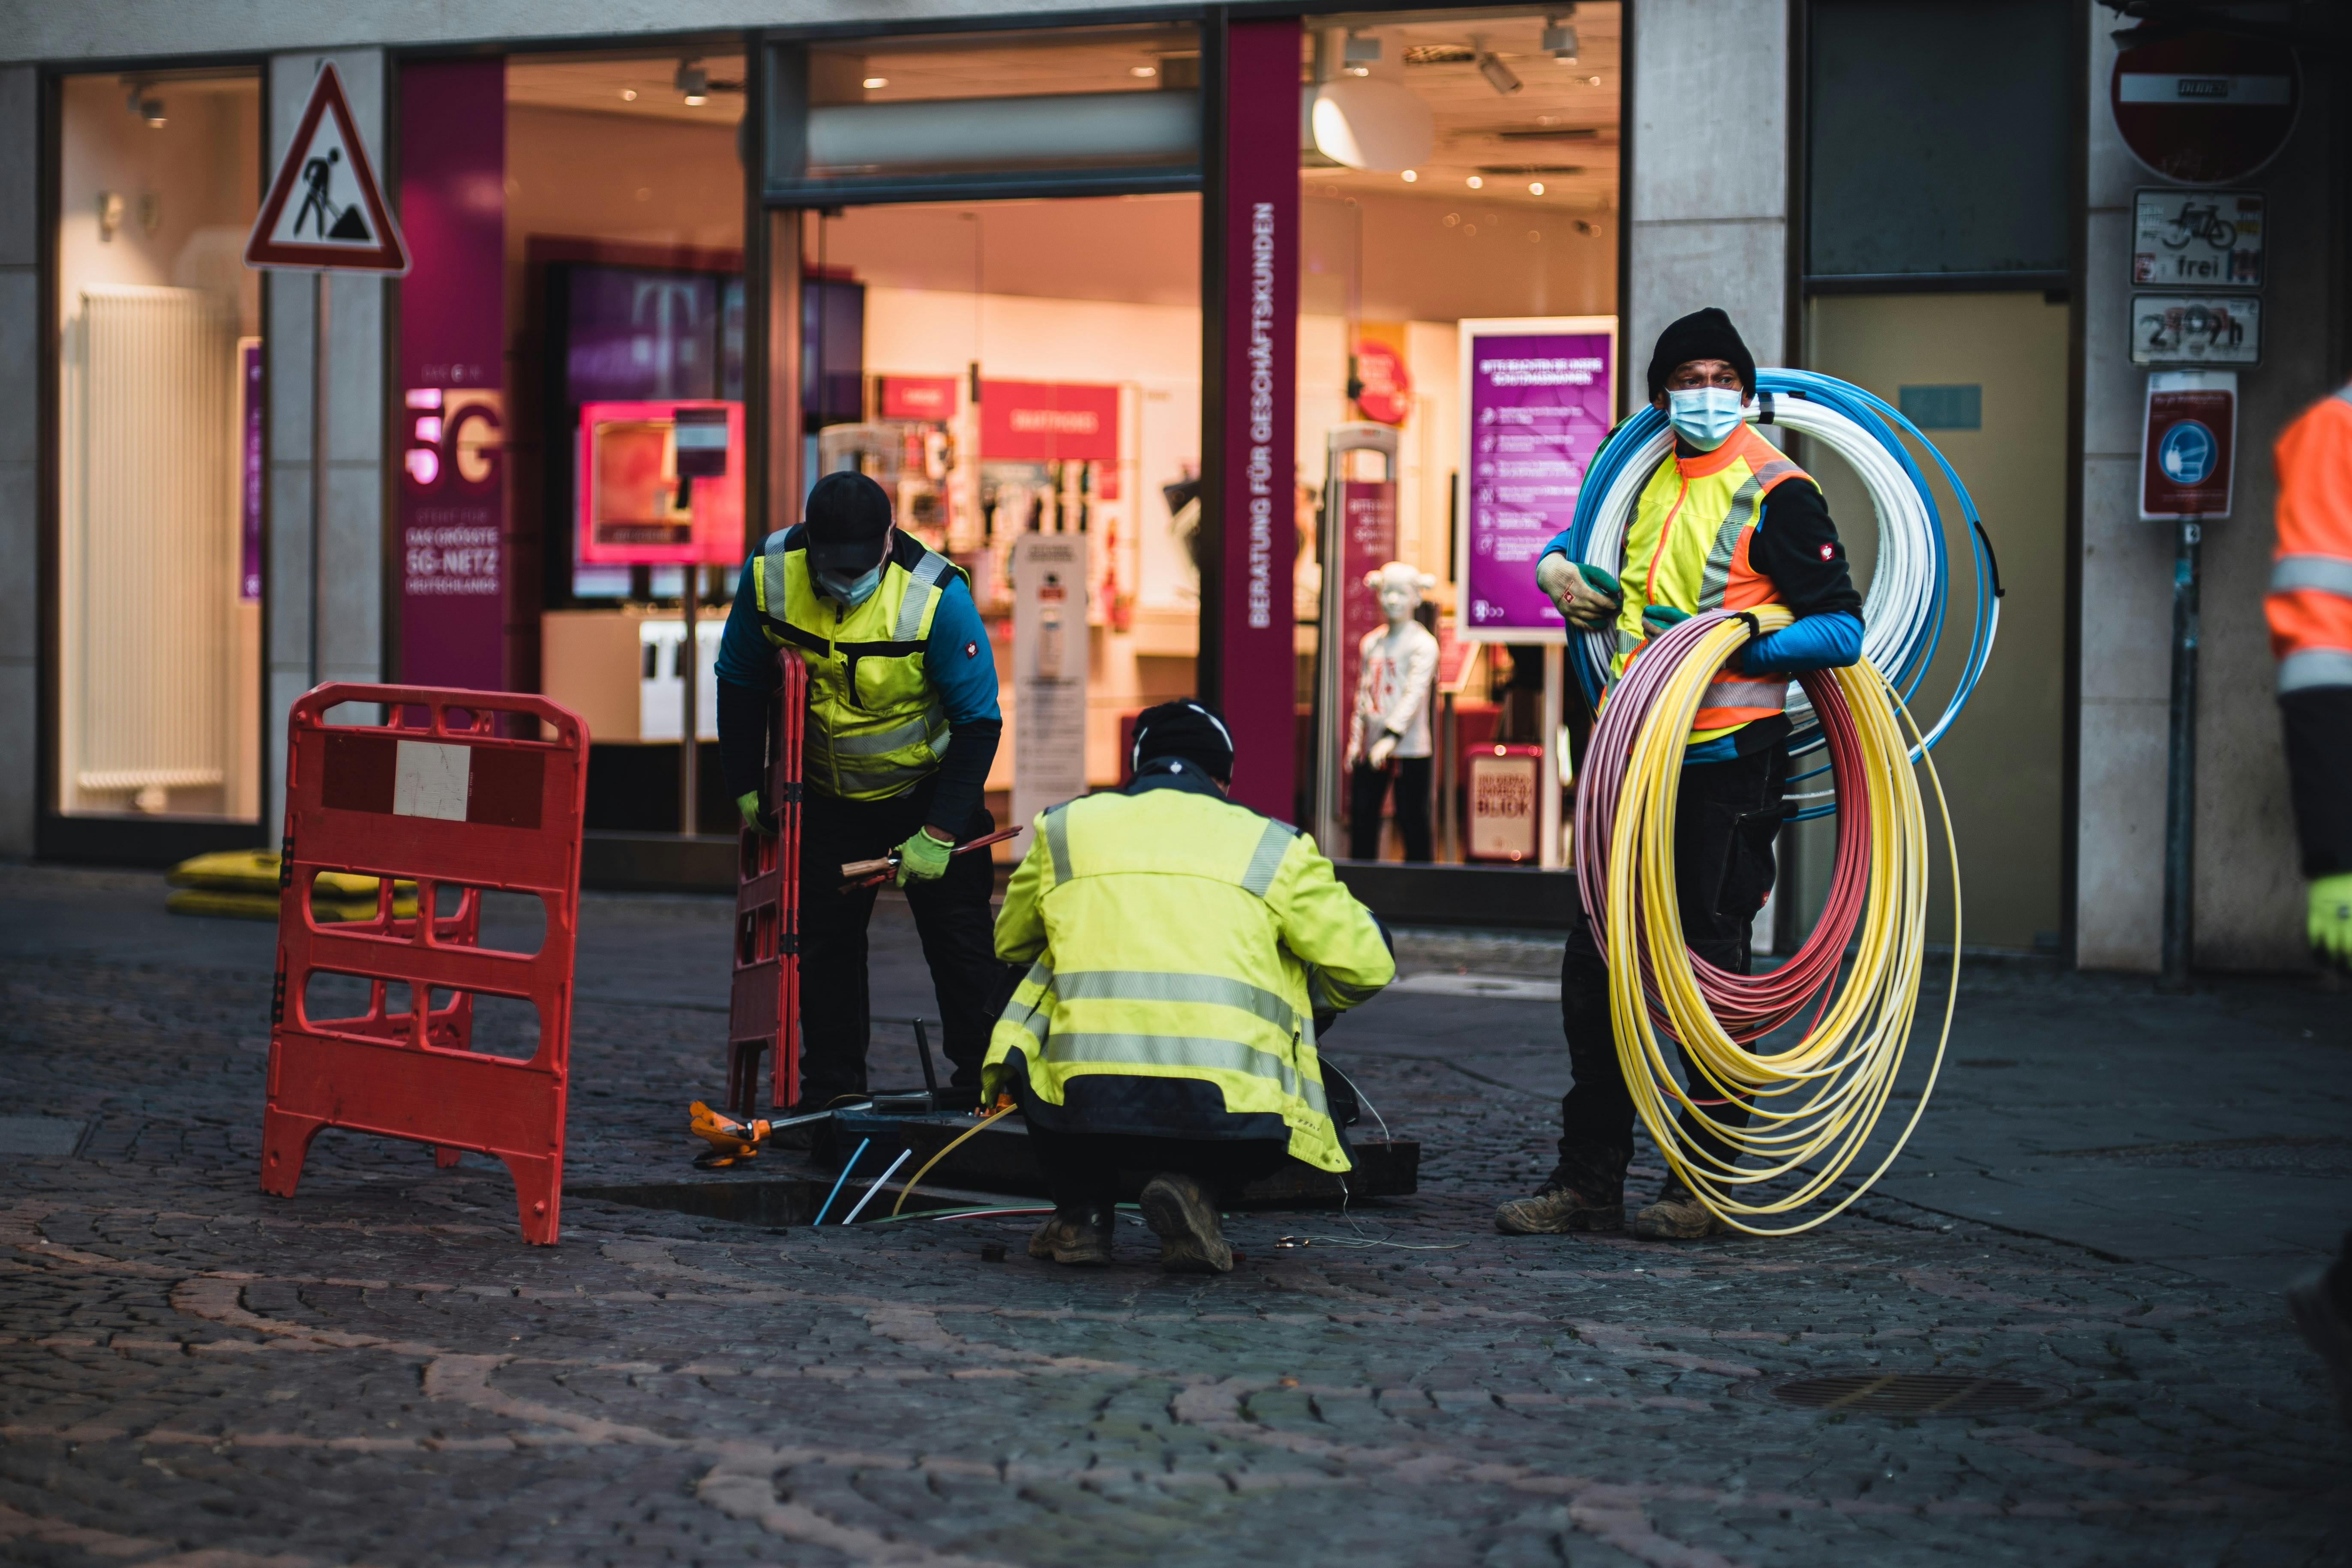
[[[1675,882],[1696,957],[1748,973],[1750,929],[1773,886],[1773,839],[1785,818],[1788,682],[1851,665],[1863,654],[1863,599],[1820,487],[1750,423],[1755,355],[1717,308],[1672,322],[1649,362],[1649,400],[1675,430],[1672,456],[1642,489],[1625,534],[1623,578],[1569,559],[1566,534],[1536,562],[1536,581],[1571,628],[1616,625],[1611,682],[1642,649],[1698,611],[1785,607],[1795,623],[1757,635],[1710,682],[1691,722],[1675,811]],[[1750,621],[1750,628],[1762,628]],[[1583,910],[1559,966],[1559,1013],[1573,1086],[1559,1103],[1559,1164],[1545,1185],[1496,1208],[1508,1234],[1599,1232],[1625,1225],[1635,1103],[1618,1063],[1609,971]],[[1745,1126],[1748,1103],[1691,1098],[1722,1126]],[[1693,1145],[1724,1161],[1736,1150],[1691,1114]],[[1729,1225],[1675,1175],[1625,1225],[1646,1239],[1696,1239]]]

